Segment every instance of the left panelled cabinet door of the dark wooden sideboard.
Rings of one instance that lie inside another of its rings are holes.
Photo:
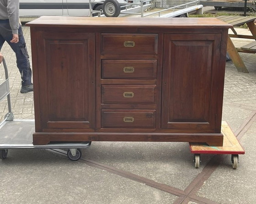
[[[37,39],[36,124],[41,120],[40,128],[94,128],[95,35],[39,32]]]

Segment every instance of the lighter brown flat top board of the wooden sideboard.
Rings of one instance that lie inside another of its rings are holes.
[[[216,18],[104,18],[77,16],[41,16],[26,26],[37,27],[90,27],[90,28],[232,28],[233,26]]]

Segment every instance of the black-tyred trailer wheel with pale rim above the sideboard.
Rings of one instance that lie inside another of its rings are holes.
[[[117,0],[105,0],[102,10],[106,17],[117,17],[121,12],[121,7]]]

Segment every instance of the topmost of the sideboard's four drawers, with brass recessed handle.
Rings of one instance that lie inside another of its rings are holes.
[[[157,54],[158,34],[101,34],[101,54]]]

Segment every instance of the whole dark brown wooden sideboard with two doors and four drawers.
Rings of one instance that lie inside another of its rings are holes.
[[[216,18],[42,16],[31,30],[34,145],[222,146],[228,29]]]

